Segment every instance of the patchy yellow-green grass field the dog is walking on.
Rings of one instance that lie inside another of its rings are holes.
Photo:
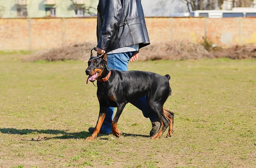
[[[149,119],[128,104],[119,139],[88,142],[99,104],[87,63],[18,57],[0,55],[0,167],[256,166],[256,60],[135,61],[129,70],[171,75],[174,136],[149,139]]]

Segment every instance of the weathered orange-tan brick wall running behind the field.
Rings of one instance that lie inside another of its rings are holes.
[[[256,43],[256,18],[146,18],[151,43],[207,36],[218,46]],[[96,18],[0,19],[0,50],[37,50],[70,43],[96,43]]]

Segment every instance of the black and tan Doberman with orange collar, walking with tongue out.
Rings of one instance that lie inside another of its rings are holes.
[[[93,48],[96,50],[96,48]],[[93,50],[92,49],[92,50]],[[172,90],[169,85],[170,75],[159,75],[153,72],[144,71],[119,71],[109,69],[107,66],[107,55],[91,57],[88,61],[88,68],[85,70],[89,75],[87,82],[97,80],[97,97],[99,100],[99,118],[92,136],[87,140],[97,137],[105,119],[108,107],[117,107],[116,115],[111,123],[112,133],[120,136],[117,129],[118,119],[125,105],[138,97],[146,96],[146,102],[152,113],[157,113],[160,119],[161,129],[151,139],[158,139],[169,126],[167,138],[173,135],[174,113],[163,107]]]

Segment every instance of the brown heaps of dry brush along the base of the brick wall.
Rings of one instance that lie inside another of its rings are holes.
[[[26,61],[59,61],[81,60],[90,58],[90,49],[96,46],[92,43],[79,43],[61,48],[39,51],[25,58]],[[207,51],[204,46],[184,41],[170,43],[155,43],[140,49],[139,60],[186,60],[201,58],[256,58],[256,46],[253,44],[236,45],[230,48],[212,48]]]

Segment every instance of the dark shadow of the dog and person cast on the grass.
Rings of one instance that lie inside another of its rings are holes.
[[[67,130],[32,130],[32,129],[15,129],[15,128],[0,128],[0,133],[6,133],[6,134],[19,134],[19,135],[28,135],[28,134],[35,134],[38,135],[40,133],[45,133],[45,134],[63,134],[62,136],[56,136],[56,137],[51,137],[51,138],[46,138],[44,137],[42,140],[47,140],[47,139],[86,139],[87,137],[91,136],[91,133],[88,131],[81,131],[77,133],[69,133]],[[100,136],[105,136],[108,134],[98,134],[98,137]],[[140,136],[140,137],[150,137],[146,135],[139,135],[139,134],[130,134],[130,133],[122,133],[121,136]],[[106,139],[106,138],[99,138],[99,139]],[[34,139],[32,139],[34,141]],[[37,140],[38,141],[38,140]]]

